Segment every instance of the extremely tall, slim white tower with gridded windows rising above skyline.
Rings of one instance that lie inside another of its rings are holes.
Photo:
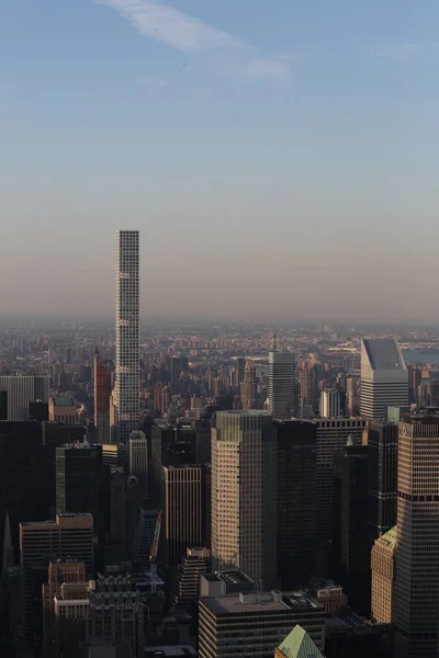
[[[139,422],[138,230],[116,236],[116,435],[126,441]]]

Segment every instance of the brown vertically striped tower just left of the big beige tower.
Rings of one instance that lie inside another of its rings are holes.
[[[204,545],[203,467],[164,467],[166,563],[177,567],[191,546]]]

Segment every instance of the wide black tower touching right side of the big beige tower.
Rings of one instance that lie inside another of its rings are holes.
[[[284,591],[315,574],[317,426],[274,422],[278,435],[278,577]]]

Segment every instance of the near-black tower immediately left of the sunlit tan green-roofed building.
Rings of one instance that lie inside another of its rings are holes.
[[[346,445],[334,457],[334,556],[336,576],[356,612],[370,613],[367,445]]]

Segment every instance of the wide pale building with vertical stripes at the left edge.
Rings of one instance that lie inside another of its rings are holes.
[[[7,393],[8,418],[4,420],[27,420],[30,402],[48,401],[48,377],[44,375],[1,375],[0,392]],[[4,410],[2,413],[4,416]]]

